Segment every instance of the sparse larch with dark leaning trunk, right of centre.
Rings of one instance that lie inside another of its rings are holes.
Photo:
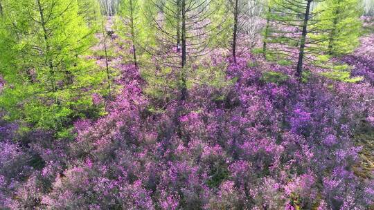
[[[312,6],[323,0],[274,0],[267,30],[267,44],[271,44],[272,53],[295,59],[296,77],[301,79],[305,59],[319,48],[319,39],[310,39],[310,35],[318,34],[320,29],[314,28],[319,19],[318,12]],[[269,54],[267,50],[267,54]]]

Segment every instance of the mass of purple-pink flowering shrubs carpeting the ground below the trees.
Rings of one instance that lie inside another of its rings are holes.
[[[257,65],[249,65],[249,62]],[[227,62],[212,59],[213,66]],[[17,136],[0,122],[0,204],[9,209],[367,209],[374,183],[359,177],[353,137],[373,119],[370,70],[358,84],[253,55],[226,69],[235,84],[198,85],[159,106],[131,65],[99,120],[75,122],[74,140]],[[369,68],[368,68],[369,69]],[[94,102],[102,103],[99,95]],[[157,107],[162,111],[152,112]],[[12,141],[13,140],[13,141]]]

